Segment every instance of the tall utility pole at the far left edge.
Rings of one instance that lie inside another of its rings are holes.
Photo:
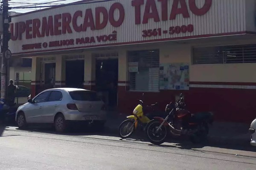
[[[1,69],[1,101],[6,102],[7,97],[7,75],[8,75],[8,59],[6,54],[8,52],[9,34],[9,4],[8,0],[3,0],[3,45],[2,45],[2,69]]]

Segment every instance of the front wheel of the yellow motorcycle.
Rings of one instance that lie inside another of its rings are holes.
[[[122,132],[125,130],[125,132],[127,134],[123,134]],[[118,133],[119,133],[119,136],[122,138],[122,139],[126,139],[128,138],[129,136],[131,136],[131,134],[134,132],[134,122],[131,120],[131,119],[127,119],[125,121],[123,121],[119,127],[118,127]]]

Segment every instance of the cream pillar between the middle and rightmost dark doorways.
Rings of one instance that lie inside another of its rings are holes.
[[[84,54],[84,88],[95,90],[96,60],[90,52]]]

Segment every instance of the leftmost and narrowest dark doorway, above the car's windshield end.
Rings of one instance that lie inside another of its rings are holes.
[[[47,88],[53,88],[55,85],[55,67],[56,63],[46,63],[44,67],[44,85]]]

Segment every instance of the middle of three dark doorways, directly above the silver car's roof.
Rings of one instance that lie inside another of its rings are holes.
[[[84,87],[84,60],[66,61],[66,86]]]

